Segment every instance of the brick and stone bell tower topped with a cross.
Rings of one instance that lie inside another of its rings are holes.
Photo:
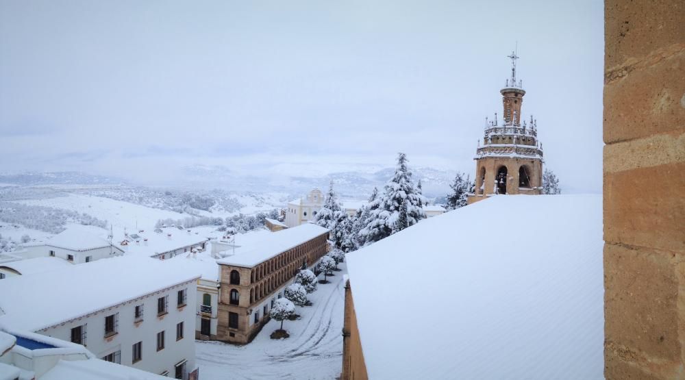
[[[521,123],[523,82],[516,81],[515,52],[511,78],[506,80],[502,95],[503,120],[485,119],[485,132],[478,143],[475,171],[475,194],[469,203],[481,201],[494,194],[541,194],[543,187],[543,147],[538,142],[538,123],[530,116],[530,123]]]

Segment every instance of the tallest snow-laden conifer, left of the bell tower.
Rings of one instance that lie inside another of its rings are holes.
[[[400,216],[400,208],[406,203],[407,226],[419,223],[425,218],[423,208],[419,206],[426,203],[425,197],[418,194],[412,182],[412,172],[407,166],[407,156],[399,153],[395,175],[386,183],[385,194],[375,210],[371,210],[368,223],[362,230],[366,237],[366,244],[377,242],[397,232],[395,224]]]

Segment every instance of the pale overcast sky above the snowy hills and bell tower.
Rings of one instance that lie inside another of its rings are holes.
[[[0,170],[475,170],[518,41],[523,116],[601,190],[601,1],[0,0]]]

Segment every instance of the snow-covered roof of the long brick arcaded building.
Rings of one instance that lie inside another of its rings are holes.
[[[262,239],[252,244],[240,246],[239,248],[236,246],[235,254],[232,251],[225,251],[227,256],[217,260],[217,262],[219,264],[251,268],[303,242],[308,242],[317,236],[321,236],[323,233],[328,233],[328,230],[312,223],[305,223],[276,233],[267,233],[263,235]],[[240,242],[236,241],[236,244],[240,244]]]

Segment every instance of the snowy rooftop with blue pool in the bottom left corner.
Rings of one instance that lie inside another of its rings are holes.
[[[84,346],[26,331],[0,330],[0,379],[162,380],[98,359]]]

